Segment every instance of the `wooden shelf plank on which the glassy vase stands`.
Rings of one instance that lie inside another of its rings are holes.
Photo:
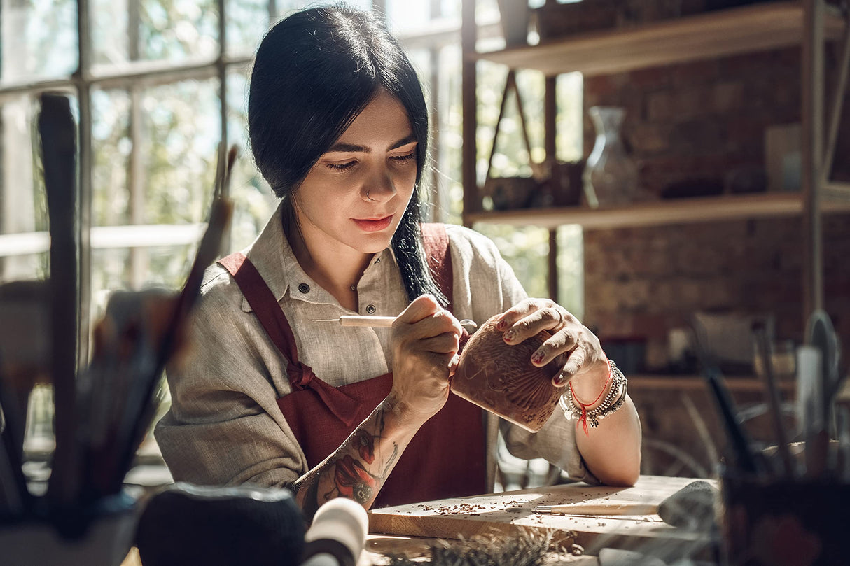
[[[795,216],[803,210],[799,193],[761,193],[636,202],[616,208],[527,208],[500,212],[471,212],[464,224],[511,224],[554,229],[580,224],[585,229],[633,228]],[[850,212],[850,201],[825,201],[824,212]]]

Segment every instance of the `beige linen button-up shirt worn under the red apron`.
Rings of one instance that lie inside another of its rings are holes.
[[[526,297],[510,266],[484,235],[446,225],[453,264],[452,311],[482,324]],[[275,295],[295,335],[298,358],[334,387],[392,370],[390,329],[314,322],[343,314],[395,316],[409,301],[387,248],[357,283],[358,312],[343,308],[298,264],[280,207],[245,251]],[[291,484],[309,471],[277,399],[290,393],[286,359],[269,340],[233,278],[207,269],[190,325],[190,348],[169,367],[172,404],[156,440],[175,481],[194,484]],[[575,445],[575,425],[556,409],[537,433],[487,413],[487,484],[492,489],[497,431],[520,458],[543,457],[570,476],[597,483]],[[449,439],[446,439],[449,440]]]

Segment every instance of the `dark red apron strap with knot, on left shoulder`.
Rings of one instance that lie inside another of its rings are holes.
[[[236,252],[219,259],[218,263],[233,276],[236,285],[239,286],[260,321],[260,325],[286,359],[286,375],[289,377],[292,388],[312,389],[340,421],[350,426],[354,422],[360,404],[339,389],[323,382],[313,373],[309,365],[298,361],[298,348],[295,345],[292,327],[286,320],[286,315],[283,314],[283,309],[280,308],[275,295],[251,260],[244,253]]]

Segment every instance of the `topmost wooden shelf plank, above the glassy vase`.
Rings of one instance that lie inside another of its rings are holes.
[[[799,45],[803,16],[802,2],[770,2],[472,56],[547,75],[571,71],[603,75]],[[838,39],[843,29],[842,18],[830,11],[826,37]]]

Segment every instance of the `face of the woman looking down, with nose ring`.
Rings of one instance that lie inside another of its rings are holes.
[[[416,184],[416,139],[405,107],[384,90],[320,157],[293,205],[313,254],[371,254],[389,245]]]

